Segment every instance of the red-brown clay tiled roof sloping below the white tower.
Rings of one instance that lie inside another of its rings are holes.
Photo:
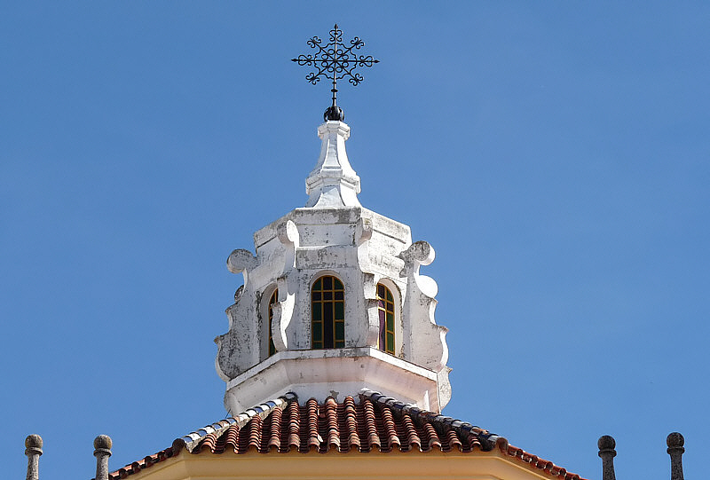
[[[548,476],[559,480],[580,480],[580,476],[509,445],[505,438],[485,429],[369,390],[363,390],[359,397],[345,397],[340,404],[329,397],[322,404],[310,399],[300,405],[294,394],[287,394],[178,438],[169,448],[113,472],[110,478],[116,480],[138,473],[176,455],[182,448],[194,454],[322,453],[332,449],[337,452],[438,450],[470,453],[498,448]]]

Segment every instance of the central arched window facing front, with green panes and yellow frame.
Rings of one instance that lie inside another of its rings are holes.
[[[311,347],[345,346],[345,290],[333,275],[320,277],[311,288]]]

